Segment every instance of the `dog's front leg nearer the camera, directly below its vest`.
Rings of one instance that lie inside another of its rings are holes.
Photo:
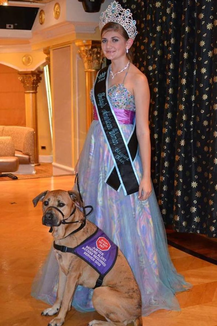
[[[57,317],[52,319],[48,326],[61,326],[65,321],[65,316],[69,310],[69,305],[72,302],[75,289],[77,287],[77,277],[75,274],[69,274],[65,284],[65,291],[62,298],[62,304]]]

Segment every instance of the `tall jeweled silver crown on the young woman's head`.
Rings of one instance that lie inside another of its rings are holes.
[[[130,10],[122,8],[116,1],[113,1],[108,8],[101,13],[99,29],[102,30],[108,22],[120,24],[126,30],[129,38],[133,40],[138,33],[136,31],[136,21],[133,20]]]

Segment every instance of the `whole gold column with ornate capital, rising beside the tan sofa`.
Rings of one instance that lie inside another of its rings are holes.
[[[34,129],[34,147],[35,147],[35,163],[39,165],[38,157],[38,120],[37,120],[37,88],[41,82],[41,74],[43,71],[19,71],[18,78],[23,84],[25,92],[26,107],[26,126]]]

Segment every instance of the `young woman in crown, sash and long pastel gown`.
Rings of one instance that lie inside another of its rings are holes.
[[[131,63],[137,34],[129,9],[114,1],[101,14],[102,51],[111,65],[99,71],[94,88],[94,121],[77,172],[88,217],[117,244],[139,284],[142,315],[157,309],[179,310],[175,292],[190,288],[177,274],[150,176],[149,86]],[[138,140],[138,141],[137,141]],[[52,271],[53,276],[50,276]],[[46,277],[49,275],[49,277]],[[33,295],[53,303],[57,263],[51,252]],[[73,306],[92,310],[92,290],[78,287]]]

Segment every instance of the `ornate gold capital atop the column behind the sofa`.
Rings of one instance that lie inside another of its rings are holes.
[[[18,71],[19,81],[23,84],[25,93],[37,93],[38,84],[41,82],[43,71]]]

